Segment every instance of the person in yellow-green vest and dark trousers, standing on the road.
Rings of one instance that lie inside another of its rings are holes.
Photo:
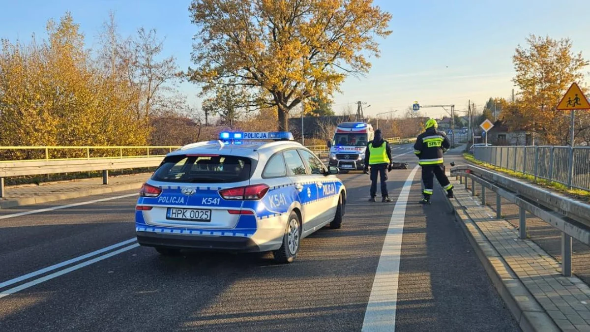
[[[381,136],[381,130],[375,131],[375,138],[367,144],[365,152],[365,172],[369,171],[371,166],[371,198],[369,201],[375,201],[377,194],[377,175],[381,178],[381,201],[390,202],[387,192],[387,172],[391,171],[391,147]]]

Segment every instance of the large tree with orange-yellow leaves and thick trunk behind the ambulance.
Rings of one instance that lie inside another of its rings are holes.
[[[189,11],[190,79],[205,95],[239,89],[242,104],[276,108],[280,130],[302,101],[315,109],[348,74],[367,73],[376,38],[391,33],[391,14],[372,0],[193,0]]]

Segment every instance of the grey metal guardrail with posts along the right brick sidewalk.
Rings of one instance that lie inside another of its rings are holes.
[[[562,232],[562,274],[572,274],[572,237],[590,246],[590,205],[535,187],[513,178],[473,165],[451,168],[451,175],[461,178],[467,190],[471,178],[471,195],[476,196],[476,183],[481,186],[481,201],[486,204],[486,189],[496,196],[496,217],[501,218],[501,197],[520,209],[519,237],[526,239],[526,212],[544,220]]]

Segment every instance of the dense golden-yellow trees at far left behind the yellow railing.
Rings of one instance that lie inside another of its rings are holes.
[[[0,145],[143,145],[136,97],[93,63],[71,16],[0,53]]]

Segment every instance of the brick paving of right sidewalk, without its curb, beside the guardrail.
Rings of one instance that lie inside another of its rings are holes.
[[[534,298],[534,302],[529,301],[532,303],[520,302],[525,303],[520,310],[546,313],[562,331],[590,331],[590,287],[579,278],[562,276],[558,261],[532,240],[519,239],[513,224],[495,219],[496,213],[482,206],[478,197],[464,190],[463,184],[451,182],[456,188],[451,203],[468,217],[463,220],[468,232],[475,239],[478,234],[486,238],[476,240],[480,247],[488,242],[493,246],[494,250],[482,248],[482,251],[486,252],[496,274],[506,285],[522,282],[530,293],[525,295]]]

